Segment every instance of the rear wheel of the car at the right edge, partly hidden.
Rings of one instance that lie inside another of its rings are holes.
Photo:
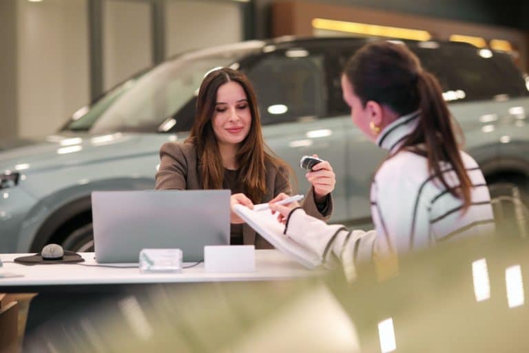
[[[500,181],[488,187],[497,230],[502,236],[529,235],[529,197],[515,183]]]

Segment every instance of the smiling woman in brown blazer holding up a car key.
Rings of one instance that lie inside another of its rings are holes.
[[[263,141],[256,94],[245,74],[229,68],[208,72],[200,85],[196,119],[184,143],[160,148],[156,189],[230,189],[231,203],[253,207],[278,194],[291,194],[291,168]],[[304,198],[307,214],[328,219],[335,174],[329,162],[307,174],[311,188]],[[271,245],[234,212],[231,244]]]

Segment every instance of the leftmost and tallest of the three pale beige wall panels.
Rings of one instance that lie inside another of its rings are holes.
[[[17,2],[19,135],[55,132],[90,101],[87,0]]]

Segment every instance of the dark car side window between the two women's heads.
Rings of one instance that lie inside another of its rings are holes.
[[[263,125],[317,119],[325,112],[323,54],[287,50],[267,54],[249,70]]]

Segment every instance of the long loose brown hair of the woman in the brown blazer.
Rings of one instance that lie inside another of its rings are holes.
[[[288,168],[287,163],[271,152],[264,143],[256,94],[245,74],[230,68],[218,68],[206,75],[198,90],[195,122],[186,142],[194,143],[196,147],[202,165],[203,188],[222,189],[224,165],[211,118],[214,116],[218,88],[230,81],[239,83],[245,90],[251,112],[248,136],[240,143],[236,154],[240,180],[245,194],[253,202],[261,202],[267,188],[265,161],[269,161],[278,170],[279,167],[283,167],[287,178],[290,177],[291,168]]]

